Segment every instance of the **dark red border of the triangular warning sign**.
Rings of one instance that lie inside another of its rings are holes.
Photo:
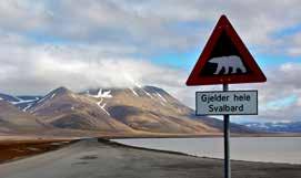
[[[219,40],[221,33],[225,31],[228,36],[234,43],[237,50],[240,52],[242,60],[245,65],[251,70],[250,74],[238,74],[238,75],[224,75],[224,76],[200,76],[200,71],[204,67],[205,63],[210,60],[210,54],[213,51],[215,43]],[[211,36],[209,38],[203,52],[199,56],[197,64],[194,65],[187,85],[213,85],[213,84],[239,84],[239,83],[259,83],[267,82],[267,77],[260,70],[255,60],[243,44],[242,40],[235,32],[234,28],[227,19],[225,15],[221,15],[219,19]]]

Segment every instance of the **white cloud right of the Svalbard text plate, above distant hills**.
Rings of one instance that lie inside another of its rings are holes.
[[[284,63],[265,72],[268,82],[254,85],[259,90],[259,118],[300,121],[300,72],[299,63]]]

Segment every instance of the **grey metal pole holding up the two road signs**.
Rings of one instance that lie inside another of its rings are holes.
[[[222,85],[223,92],[229,91],[229,85]],[[230,115],[223,115],[223,142],[224,142],[224,178],[231,178],[230,165]]]

